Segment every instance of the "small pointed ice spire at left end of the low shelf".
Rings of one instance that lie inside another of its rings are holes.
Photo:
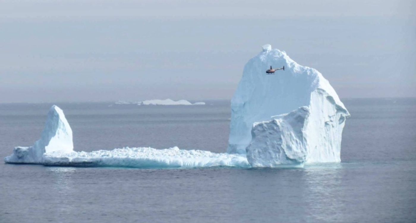
[[[72,130],[63,111],[53,105],[48,113],[40,140],[31,147],[15,147],[13,154],[5,157],[7,163],[42,164],[45,152],[72,152]]]

